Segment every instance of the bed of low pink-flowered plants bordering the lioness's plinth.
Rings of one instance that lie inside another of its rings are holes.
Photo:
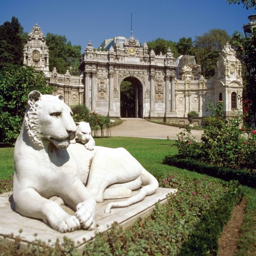
[[[177,188],[176,195],[170,195],[164,205],[157,203],[150,217],[131,227],[123,229],[114,223],[110,230],[87,242],[82,252],[69,239],[61,244],[57,241],[54,247],[36,239],[27,251],[20,252],[20,237],[14,243],[0,243],[0,251],[22,256],[216,255],[223,225],[242,193],[238,182],[196,176],[170,171],[159,185]]]

